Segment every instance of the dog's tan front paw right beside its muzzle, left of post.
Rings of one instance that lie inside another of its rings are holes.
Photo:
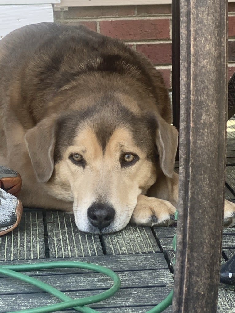
[[[169,226],[174,223],[175,210],[169,201],[140,195],[130,222],[141,226]]]

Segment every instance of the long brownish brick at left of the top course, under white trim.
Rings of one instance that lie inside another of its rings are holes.
[[[113,16],[133,16],[135,15],[135,6],[100,6],[100,7],[73,7],[68,11],[55,11],[56,19],[73,19],[89,17],[113,17]]]

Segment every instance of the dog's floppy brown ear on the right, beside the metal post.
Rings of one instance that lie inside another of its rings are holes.
[[[178,146],[178,131],[175,126],[167,123],[161,116],[157,117],[157,122],[156,144],[160,167],[165,176],[172,178]]]

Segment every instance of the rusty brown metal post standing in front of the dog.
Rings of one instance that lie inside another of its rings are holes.
[[[227,0],[180,0],[180,187],[173,313],[215,313],[227,122]]]

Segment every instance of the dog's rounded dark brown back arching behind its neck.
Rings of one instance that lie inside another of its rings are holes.
[[[154,96],[159,114],[171,121],[167,90],[153,65],[121,41],[84,26],[40,23],[17,29],[0,42],[0,71],[0,110],[10,96],[13,110],[30,111],[27,125],[40,121],[51,98],[87,73],[90,80],[97,73],[128,77]]]

